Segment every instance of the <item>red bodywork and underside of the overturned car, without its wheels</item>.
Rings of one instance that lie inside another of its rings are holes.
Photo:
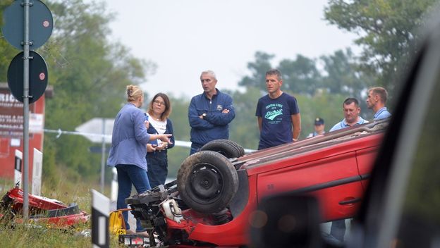
[[[230,221],[216,224],[212,214],[185,209],[180,223],[165,218],[165,243],[179,247],[248,244],[248,230],[255,225],[252,215],[259,202],[283,192],[316,196],[324,214],[322,222],[353,217],[385,127],[386,122],[359,125],[232,160],[238,168],[239,185],[226,213]]]

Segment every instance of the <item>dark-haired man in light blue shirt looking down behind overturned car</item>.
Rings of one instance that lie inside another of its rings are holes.
[[[368,123],[368,120],[364,120],[362,117],[359,116],[359,101],[357,101],[357,99],[355,98],[347,98],[343,102],[343,113],[345,118],[341,120],[341,122],[336,123],[336,125],[334,125],[333,128],[330,129],[330,132],[340,130],[342,128],[349,128],[353,125]]]

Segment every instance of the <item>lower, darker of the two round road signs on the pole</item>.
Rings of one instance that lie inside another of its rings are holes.
[[[12,95],[23,102],[23,56],[24,52],[17,54],[8,68],[8,86]],[[37,101],[47,87],[47,65],[43,57],[35,51],[29,51],[29,103]]]

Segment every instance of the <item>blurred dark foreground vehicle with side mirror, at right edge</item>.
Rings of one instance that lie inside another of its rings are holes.
[[[344,247],[440,246],[440,18],[436,10],[436,20],[422,34],[402,81],[365,199]],[[295,208],[283,208],[283,213],[271,208],[280,204],[295,204]],[[334,247],[319,235],[322,209],[325,205],[310,196],[265,199],[259,211],[267,214],[268,221],[252,230],[254,247]],[[270,233],[279,233],[275,223],[285,216],[295,221],[295,227],[282,238],[271,239]]]

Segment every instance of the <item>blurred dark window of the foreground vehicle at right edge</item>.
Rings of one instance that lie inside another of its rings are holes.
[[[439,94],[437,74],[403,197],[396,247],[433,247],[433,242],[440,242]]]

